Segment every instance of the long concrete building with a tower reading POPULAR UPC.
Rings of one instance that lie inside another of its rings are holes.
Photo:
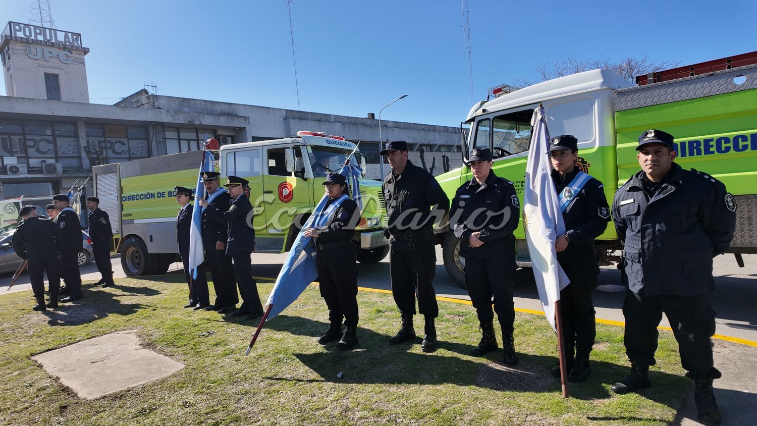
[[[373,114],[347,117],[154,95],[144,89],[114,105],[90,104],[84,67],[89,49],[78,33],[10,22],[0,36],[0,51],[8,92],[0,96],[0,198],[23,195],[45,204],[51,194],[91,176],[93,165],[197,150],[207,138],[226,145],[288,137],[299,130],[360,142],[368,176],[380,178]],[[49,83],[52,69],[58,73],[58,92]],[[385,141],[408,141],[411,160],[435,175],[462,163],[457,127],[381,124]]]

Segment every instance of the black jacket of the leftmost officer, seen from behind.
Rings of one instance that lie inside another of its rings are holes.
[[[50,219],[30,217],[16,228],[13,250],[21,259],[55,258],[63,249],[62,235],[61,229]],[[81,235],[79,241],[82,241]]]

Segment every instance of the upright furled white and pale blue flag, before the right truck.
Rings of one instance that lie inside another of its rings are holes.
[[[565,222],[562,221],[557,191],[550,176],[547,156],[550,134],[541,105],[534,110],[531,127],[523,190],[523,229],[541,306],[544,306],[547,320],[556,331],[555,302],[560,299],[560,290],[570,280],[557,263],[555,241],[559,235],[565,234]]]

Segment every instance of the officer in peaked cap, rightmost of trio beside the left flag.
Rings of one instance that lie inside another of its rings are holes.
[[[232,205],[227,211],[217,209],[213,204],[208,204],[202,198],[199,198],[200,205],[207,207],[205,215],[211,220],[228,224],[229,235],[226,241],[226,257],[234,260],[234,272],[236,281],[239,285],[239,294],[241,294],[242,304],[234,316],[249,315],[250,318],[257,318],[263,315],[263,305],[260,303],[260,296],[257,294],[257,284],[251,275],[250,255],[254,249],[255,231],[252,228],[252,204],[247,195],[245,187],[248,185],[246,179],[237,176],[229,176],[229,194],[232,197]],[[236,289],[234,291],[236,294]],[[222,309],[221,312],[224,312]]]

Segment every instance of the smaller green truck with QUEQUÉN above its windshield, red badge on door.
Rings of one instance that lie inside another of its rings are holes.
[[[215,166],[221,176],[250,182],[258,253],[283,253],[323,196],[331,170],[350,160],[363,165],[356,145],[344,138],[298,132],[291,138],[224,145]],[[95,195],[111,216],[114,247],[128,276],[164,274],[177,261],[175,186],[195,188],[202,151],[106,164],[92,168]],[[360,263],[376,263],[389,251],[381,182],[359,179],[363,202],[354,243]],[[222,182],[223,183],[223,182]],[[353,194],[354,196],[354,194]]]

